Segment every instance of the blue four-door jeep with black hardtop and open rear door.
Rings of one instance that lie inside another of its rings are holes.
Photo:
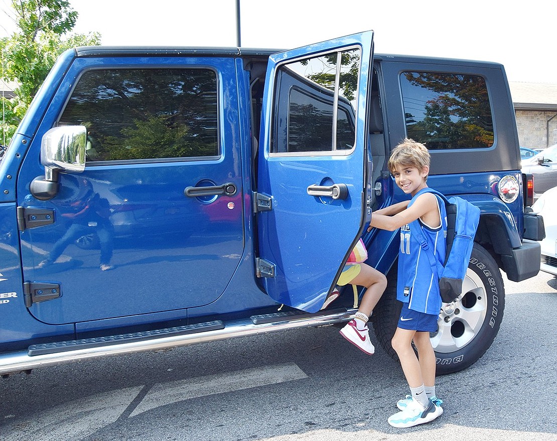
[[[360,237],[388,275],[372,320],[394,356],[399,233],[367,224],[405,197],[385,166],[405,137],[431,150],[430,187],[481,209],[431,337],[455,372],[499,330],[500,270],[540,267],[501,65],[374,55],[372,32],[63,53],[0,162],[0,374],[342,324],[350,287],[320,309]]]

